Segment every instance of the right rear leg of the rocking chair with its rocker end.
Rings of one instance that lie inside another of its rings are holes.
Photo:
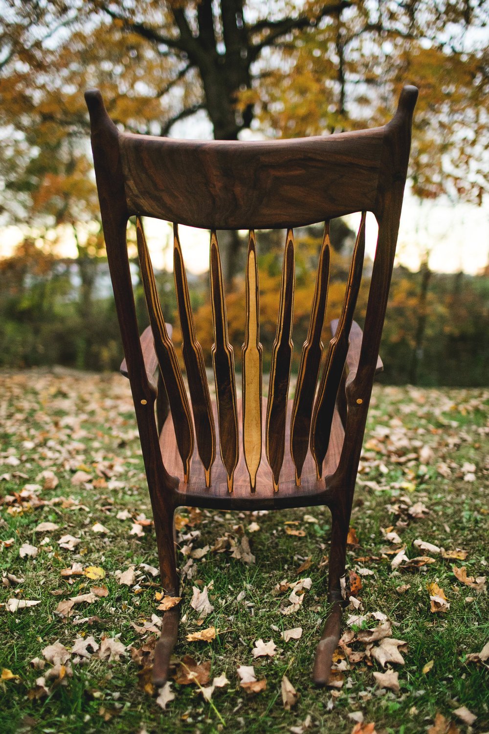
[[[347,513],[347,516],[350,517],[350,512]],[[332,513],[328,578],[328,602],[332,606],[316,648],[312,680],[317,686],[328,685],[334,650],[337,649],[341,637],[342,611],[345,606],[342,597],[342,578],[345,576],[348,525],[349,520],[345,520],[345,513],[336,511]]]

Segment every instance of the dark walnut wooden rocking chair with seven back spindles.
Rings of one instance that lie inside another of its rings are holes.
[[[86,93],[107,257],[155,523],[161,583],[178,595],[174,511],[177,506],[282,509],[327,505],[332,531],[328,601],[313,680],[328,683],[340,636],[345,555],[353,491],[378,360],[399,228],[418,91],[405,87],[384,127],[328,137],[273,142],[193,141],[117,131],[98,90]],[[321,332],[329,269],[329,219],[362,212],[339,321],[323,353]],[[365,212],[378,222],[364,334],[353,321],[364,261]],[[126,226],[137,217],[137,242],[150,327],[139,338]],[[210,297],[216,402],[210,399],[196,341],[177,225],[174,279],[183,336],[188,401],[171,331],[163,319],[141,216],[211,230]],[[295,256],[293,227],[325,221],[309,330],[293,401]],[[251,228],[251,229],[250,229]],[[262,401],[262,346],[254,229],[287,228],[268,401]],[[216,230],[250,229],[246,265],[243,399],[227,336]],[[159,366],[159,377],[155,372]],[[155,401],[156,413],[155,418]],[[158,421],[158,422],[157,422]],[[194,450],[194,448],[196,450]],[[166,611],[155,647],[153,680],[166,681],[180,611]]]

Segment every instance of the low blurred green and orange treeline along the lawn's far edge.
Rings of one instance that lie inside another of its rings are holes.
[[[309,323],[319,242],[312,230],[298,239],[294,311],[294,368]],[[260,341],[264,369],[268,368],[276,328],[282,239],[271,237],[261,248]],[[342,252],[348,250],[345,245]],[[334,250],[328,295],[327,323],[339,316],[348,273],[348,255]],[[364,267],[356,319],[363,325],[369,273]],[[163,313],[180,332],[172,273],[156,274]],[[139,269],[133,265],[134,294],[141,330],[147,326]],[[191,299],[196,330],[211,366],[212,324],[208,275],[192,277]],[[62,365],[84,370],[114,370],[120,366],[122,347],[111,293],[109,270],[103,258],[59,260],[26,240],[15,257],[0,261],[0,366],[28,368]],[[244,279],[236,277],[227,296],[229,337],[240,368],[244,332]],[[380,355],[382,381],[419,385],[479,386],[488,383],[489,277],[462,273],[441,275],[427,268],[418,273],[397,268],[391,284],[389,307]],[[325,343],[329,339],[325,327]]]

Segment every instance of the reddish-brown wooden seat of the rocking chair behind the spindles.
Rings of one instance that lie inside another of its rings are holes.
[[[337,469],[343,438],[345,436],[339,413],[335,409],[331,424],[331,437],[328,451],[323,462],[323,479],[317,480],[315,462],[309,448],[302,470],[301,486],[297,487],[295,484],[295,467],[290,457],[290,415],[292,413],[293,401],[290,400],[288,402],[284,463],[280,473],[279,490],[278,492],[274,492],[272,472],[268,466],[265,454],[266,403],[266,399],[262,399],[262,459],[257,473],[257,488],[254,493],[251,493],[249,473],[243,456],[243,403],[241,399],[238,399],[240,457],[238,466],[235,469],[232,493],[229,493],[227,489],[227,473],[219,451],[218,431],[216,431],[216,460],[212,467],[210,487],[205,486],[204,468],[196,448],[194,448],[194,454],[191,458],[190,476],[188,482],[185,483],[183,481],[182,460],[177,449],[172,416],[169,415],[166,418],[160,435],[161,454],[166,470],[179,480],[177,488],[179,504],[218,507],[220,509],[227,509],[231,504],[235,509],[258,509],[259,506],[262,508],[304,506],[304,501],[307,498],[324,493],[326,489],[324,477],[333,474]],[[217,426],[217,407],[215,401],[212,401],[212,407],[214,421]]]

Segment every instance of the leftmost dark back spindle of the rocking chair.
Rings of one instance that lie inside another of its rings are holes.
[[[168,395],[185,481],[188,481],[190,459],[194,451],[194,429],[190,406],[188,405],[187,393],[185,392],[185,385],[178,364],[177,352],[175,352],[173,342],[166,331],[155,275],[152,271],[150,253],[147,249],[146,238],[139,217],[136,219],[136,237],[144,296],[150,315],[152,334],[155,338],[155,352],[158,357],[166,394]]]

